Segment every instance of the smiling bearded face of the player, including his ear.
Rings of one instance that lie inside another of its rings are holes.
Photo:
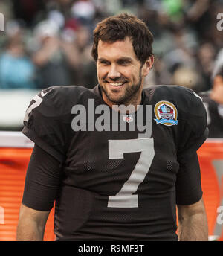
[[[113,43],[100,41],[98,52],[97,74],[103,100],[109,106],[114,103],[139,105],[143,79],[152,67],[153,57],[141,65],[129,37]]]

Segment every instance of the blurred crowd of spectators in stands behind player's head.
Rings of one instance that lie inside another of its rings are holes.
[[[106,16],[132,13],[154,35],[155,65],[145,86],[211,88],[222,48],[222,0],[0,0],[0,89],[97,84],[93,30]]]

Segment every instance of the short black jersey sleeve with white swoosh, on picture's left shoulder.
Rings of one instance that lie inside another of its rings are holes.
[[[57,86],[42,90],[33,97],[25,113],[22,132],[60,162],[65,157],[66,110]]]

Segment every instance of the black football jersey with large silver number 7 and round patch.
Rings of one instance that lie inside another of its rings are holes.
[[[143,89],[142,98],[135,115],[118,113],[117,126],[113,110],[101,111],[100,86],[51,87],[31,101],[23,133],[62,165],[57,240],[178,240],[175,205],[202,196],[196,150],[207,138],[206,112],[181,86]],[[140,109],[144,125],[152,114],[147,133],[131,126]]]

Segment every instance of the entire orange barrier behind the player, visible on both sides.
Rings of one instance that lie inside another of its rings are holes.
[[[0,241],[16,240],[19,206],[31,152],[31,148],[0,147]],[[219,206],[223,206],[223,141],[207,140],[198,150],[198,158],[209,234],[223,240],[223,224],[217,221],[221,220],[218,219]],[[44,240],[54,240],[53,229],[54,211],[51,211]]]

